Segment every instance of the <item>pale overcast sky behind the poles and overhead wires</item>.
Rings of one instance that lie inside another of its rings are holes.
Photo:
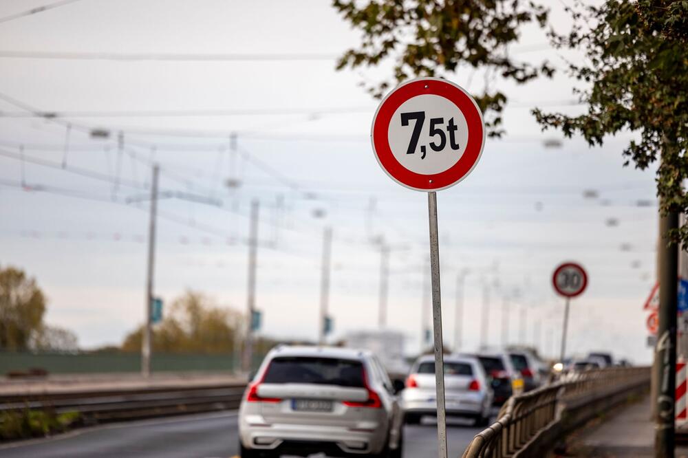
[[[44,3],[5,0],[0,17]],[[567,23],[557,10],[552,22]],[[245,309],[247,216],[257,198],[261,332],[316,338],[321,234],[330,225],[333,338],[376,328],[380,252],[371,239],[381,235],[393,247],[389,327],[405,332],[407,352],[416,351],[427,197],[376,164],[368,133],[377,102],[359,83],[384,74],[334,69],[356,43],[356,32],[320,0],[81,0],[0,22],[0,265],[35,276],[49,299],[47,321],[74,330],[84,347],[119,343],[143,317],[142,199],[155,160],[162,190],[221,204],[160,201],[155,293],[166,302],[193,289]],[[546,43],[528,29],[513,52],[560,70],[564,58],[577,58]],[[471,69],[447,77],[468,91],[484,85]],[[570,351],[612,349],[649,361],[642,307],[655,281],[655,168],[623,167],[629,134],[603,148],[580,138],[546,148],[561,136],[541,133],[530,108],[581,109],[563,72],[522,87],[493,84],[510,97],[508,135],[488,140],[475,171],[438,195],[445,340],[453,342],[455,279],[468,268],[464,349],[478,344],[489,283],[490,343],[501,341],[504,296],[518,290],[508,302],[510,341],[525,308],[535,318],[528,342],[540,323],[539,343],[552,356],[563,301],[550,276],[559,262],[575,260],[590,285],[572,302]],[[61,116],[48,122],[27,108]],[[107,129],[109,140],[89,138],[92,127]],[[241,186],[227,188],[227,179]],[[598,197],[585,198],[585,190]]]

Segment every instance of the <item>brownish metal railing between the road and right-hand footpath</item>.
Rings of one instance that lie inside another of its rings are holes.
[[[497,422],[473,438],[462,458],[515,457],[557,426],[566,409],[649,384],[649,378],[649,367],[599,369],[564,376],[559,382],[510,397]]]

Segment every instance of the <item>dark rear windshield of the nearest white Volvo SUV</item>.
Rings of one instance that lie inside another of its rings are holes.
[[[363,388],[361,361],[290,356],[270,361],[264,383],[313,383]]]

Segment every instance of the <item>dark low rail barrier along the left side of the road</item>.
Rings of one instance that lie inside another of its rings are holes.
[[[201,386],[194,388],[168,388],[150,390],[122,390],[119,392],[60,393],[54,397],[29,395],[15,396],[10,402],[0,403],[0,413],[25,409],[78,412],[87,423],[118,419],[136,419],[199,413],[238,408],[244,393],[244,384]]]

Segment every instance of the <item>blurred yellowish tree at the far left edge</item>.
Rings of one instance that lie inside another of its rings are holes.
[[[43,327],[45,296],[17,268],[0,269],[0,349],[25,350]]]

